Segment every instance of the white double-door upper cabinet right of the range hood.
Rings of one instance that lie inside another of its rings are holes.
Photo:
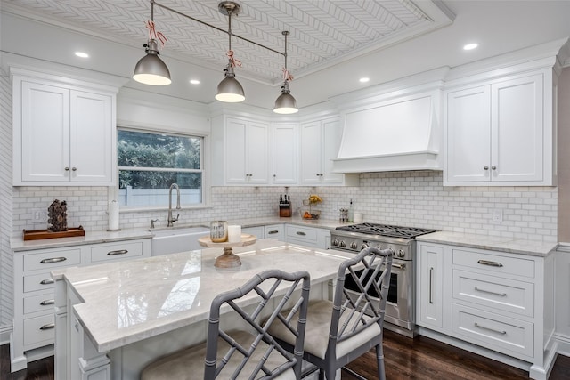
[[[444,185],[556,184],[551,94],[549,70],[450,90]]]

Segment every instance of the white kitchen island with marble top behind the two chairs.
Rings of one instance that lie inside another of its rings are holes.
[[[56,379],[138,379],[155,358],[206,339],[217,294],[277,268],[309,271],[311,298],[328,297],[330,279],[352,255],[274,239],[233,251],[242,263],[235,269],[216,268],[222,251],[208,248],[53,271]]]

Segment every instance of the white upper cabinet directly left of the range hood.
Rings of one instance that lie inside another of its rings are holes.
[[[342,137],[338,117],[301,124],[300,182],[304,185],[356,185],[358,174],[332,172]]]

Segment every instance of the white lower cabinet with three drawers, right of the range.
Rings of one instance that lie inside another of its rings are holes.
[[[420,334],[451,336],[495,360],[515,358],[531,378],[548,378],[556,352],[553,255],[419,241],[417,265]]]

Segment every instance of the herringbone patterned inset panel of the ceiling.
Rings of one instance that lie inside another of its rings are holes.
[[[228,18],[218,12],[218,0],[161,0],[157,2],[223,30]],[[232,17],[232,33],[284,52],[281,31],[289,30],[288,68],[303,77],[340,61],[371,53],[403,39],[440,28],[443,12],[422,0],[243,0]],[[424,9],[422,10],[421,7]],[[425,9],[428,6],[429,12]],[[149,36],[148,0],[3,0],[4,9],[35,14],[46,22],[121,43],[140,46]],[[167,37],[163,57],[175,57],[204,67],[223,69],[228,35],[183,15],[154,6],[156,30]],[[444,17],[444,19],[446,19]],[[451,20],[444,20],[450,23]],[[232,38],[235,58],[242,62],[240,76],[267,84],[281,81],[284,59],[240,38]]]

